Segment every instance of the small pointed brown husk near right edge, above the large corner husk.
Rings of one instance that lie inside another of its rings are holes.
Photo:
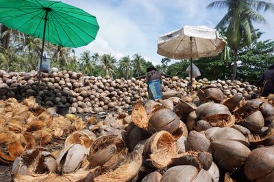
[[[264,117],[260,110],[249,115],[243,123],[251,132],[258,132],[264,126]]]

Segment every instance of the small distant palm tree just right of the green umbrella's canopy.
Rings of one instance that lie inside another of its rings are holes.
[[[115,74],[114,69],[114,63],[116,62],[116,59],[112,57],[111,55],[101,55],[101,65],[103,69],[105,70],[105,76],[110,76],[113,78],[113,74]]]

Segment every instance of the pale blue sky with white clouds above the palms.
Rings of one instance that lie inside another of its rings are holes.
[[[206,25],[214,29],[226,10],[208,10],[212,0],[62,0],[97,17],[96,40],[76,49],[91,54],[111,54],[116,59],[138,53],[154,65],[160,64],[158,37],[184,25]],[[273,0],[272,0],[273,1]],[[273,1],[274,3],[274,1]],[[274,12],[262,15],[268,23],[257,25],[261,40],[274,39]]]

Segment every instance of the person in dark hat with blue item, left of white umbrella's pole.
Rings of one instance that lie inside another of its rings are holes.
[[[153,66],[147,67],[147,74],[145,76],[145,82],[148,86],[149,100],[161,100],[162,99],[162,74]]]

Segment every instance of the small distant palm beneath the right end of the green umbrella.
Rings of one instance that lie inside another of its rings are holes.
[[[90,51],[86,50],[81,54],[79,59],[81,61],[84,73],[88,74],[89,76],[92,74],[92,70],[95,67],[95,63],[93,62],[92,56],[90,56]]]

